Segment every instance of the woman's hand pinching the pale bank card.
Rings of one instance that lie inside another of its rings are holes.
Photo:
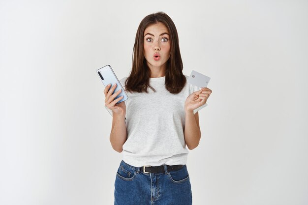
[[[185,101],[185,111],[193,111],[204,105],[210,97],[212,90],[209,88],[201,88],[188,95]]]

